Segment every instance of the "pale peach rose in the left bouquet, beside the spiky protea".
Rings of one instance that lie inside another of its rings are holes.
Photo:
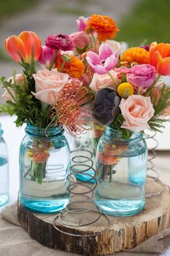
[[[35,98],[38,100],[54,104],[57,101],[58,92],[68,83],[68,74],[58,72],[57,69],[38,70],[37,74],[33,74],[35,79]]]

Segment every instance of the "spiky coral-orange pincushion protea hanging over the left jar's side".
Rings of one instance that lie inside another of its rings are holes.
[[[90,106],[81,106],[92,98],[89,90],[72,81],[67,84],[58,94],[58,103],[55,104],[58,114],[56,124],[63,124],[68,134],[73,137],[78,137],[81,133],[86,132],[86,123],[91,121]]]

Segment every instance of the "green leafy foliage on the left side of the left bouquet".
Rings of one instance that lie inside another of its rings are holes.
[[[35,80],[32,77],[35,73],[34,61],[32,59],[31,63],[27,64],[22,59],[21,65],[24,68],[24,82],[20,85],[16,84],[15,75],[14,82],[6,81],[5,77],[1,77],[0,82],[11,96],[12,101],[6,101],[5,105],[0,105],[0,112],[8,113],[10,116],[15,114],[17,127],[24,123],[30,123],[35,127],[46,127],[50,122],[50,107],[32,95],[32,92],[35,92]]]

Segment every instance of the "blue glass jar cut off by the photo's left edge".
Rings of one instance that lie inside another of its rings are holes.
[[[0,123],[0,206],[9,200],[9,163],[6,142],[2,137],[3,130]]]

